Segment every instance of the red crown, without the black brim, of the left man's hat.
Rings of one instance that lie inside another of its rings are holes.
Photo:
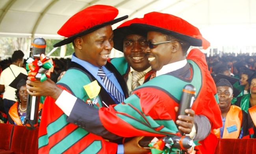
[[[86,7],[71,16],[57,32],[64,37],[71,37],[93,26],[109,22],[118,15],[118,9],[113,6],[95,5]]]

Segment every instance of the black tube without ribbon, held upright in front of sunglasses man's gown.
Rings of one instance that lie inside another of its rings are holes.
[[[185,113],[185,110],[191,108],[191,106],[193,105],[195,99],[195,92],[196,88],[192,84],[187,84],[186,86],[184,86],[184,88],[182,89],[182,96],[180,99],[180,105],[176,119],[178,119],[179,115],[188,115]],[[184,135],[184,132],[180,131],[180,134]]]

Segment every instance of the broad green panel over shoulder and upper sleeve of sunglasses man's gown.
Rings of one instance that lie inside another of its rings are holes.
[[[156,87],[165,90],[167,94],[173,96],[173,99],[180,101],[182,95],[182,88],[187,84],[192,84],[196,88],[195,97],[197,97],[198,93],[200,92],[202,86],[202,73],[199,66],[191,60],[187,60],[189,64],[193,66],[193,77],[191,82],[182,80],[183,78],[177,78],[172,75],[160,75],[157,78],[154,78],[147,83],[142,84],[141,86],[137,87]],[[166,81],[166,82],[163,82]],[[171,82],[170,82],[171,81]],[[170,84],[169,84],[170,83]]]

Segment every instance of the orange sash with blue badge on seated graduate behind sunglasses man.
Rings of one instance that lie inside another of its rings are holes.
[[[237,139],[240,134],[240,129],[243,121],[243,112],[241,108],[235,105],[231,105],[226,116],[225,127],[223,131],[223,139]],[[228,133],[227,127],[236,125],[237,131]],[[220,128],[213,130],[217,138],[221,138]]]

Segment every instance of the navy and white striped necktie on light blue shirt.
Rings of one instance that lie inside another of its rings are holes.
[[[124,101],[124,95],[122,95],[121,92],[119,92],[119,90],[115,87],[115,85],[108,79],[102,67],[100,67],[98,70],[98,76],[100,76],[109,94],[115,97],[120,103]]]

